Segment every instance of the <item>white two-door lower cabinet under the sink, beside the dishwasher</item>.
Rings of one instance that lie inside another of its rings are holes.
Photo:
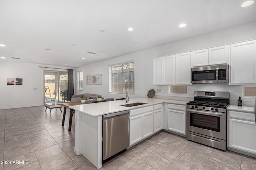
[[[130,110],[130,145],[154,133],[153,106]]]

